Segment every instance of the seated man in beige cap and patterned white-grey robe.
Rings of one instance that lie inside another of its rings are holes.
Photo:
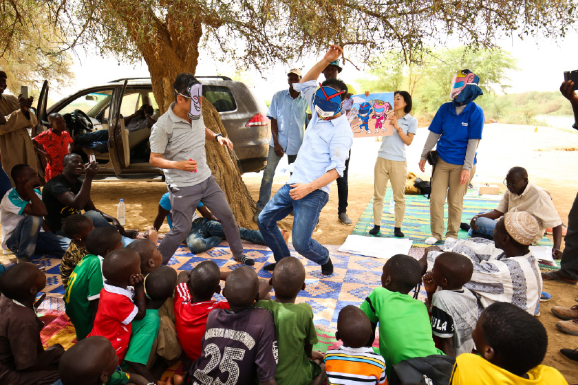
[[[456,252],[471,259],[473,274],[464,287],[478,298],[478,311],[495,302],[508,302],[535,314],[542,289],[542,278],[536,259],[528,248],[539,233],[536,219],[525,211],[506,212],[493,231],[494,241],[460,239],[441,248],[425,249],[421,259],[428,270],[436,257]]]

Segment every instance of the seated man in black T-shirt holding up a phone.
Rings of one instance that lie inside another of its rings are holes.
[[[80,179],[85,165],[80,155],[69,154],[64,157],[62,174],[48,181],[42,190],[42,201],[46,205],[46,224],[50,231],[63,234],[62,223],[72,214],[81,214],[92,219],[95,228],[116,227],[122,235],[122,244],[128,245],[137,235],[137,230],[125,230],[118,219],[98,210],[90,199],[92,178],[96,175],[98,164],[92,162],[86,167],[84,181]],[[111,224],[112,223],[112,224]]]

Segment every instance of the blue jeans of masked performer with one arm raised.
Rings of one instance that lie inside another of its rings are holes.
[[[311,239],[311,236],[319,221],[319,213],[329,200],[329,195],[322,190],[315,190],[296,201],[291,199],[290,190],[288,184],[284,185],[267,203],[257,220],[259,230],[272,250],[275,261],[281,261],[291,254],[281,230],[277,227],[277,221],[294,212],[293,247],[306,259],[323,265],[329,261],[329,251],[321,243]]]

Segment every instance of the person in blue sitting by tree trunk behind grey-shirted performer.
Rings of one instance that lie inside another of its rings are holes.
[[[191,225],[191,232],[186,236],[186,245],[193,254],[202,253],[208,249],[214,248],[221,243],[225,238],[225,231],[221,221],[204,206],[202,202],[197,205],[197,210],[202,214],[202,217],[197,215],[197,211],[193,212],[193,223]],[[167,218],[169,228],[173,228],[173,218],[171,214],[171,198],[169,192],[165,192],[158,202],[157,217],[153,223],[153,227],[158,231],[160,226]],[[259,230],[251,230],[239,227],[241,239],[257,245],[266,245],[263,236]],[[289,232],[281,230],[283,239],[287,242],[289,239]]]

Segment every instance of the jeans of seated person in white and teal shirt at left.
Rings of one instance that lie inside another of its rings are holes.
[[[70,244],[70,239],[53,232],[41,232],[42,217],[28,215],[18,223],[6,245],[17,258],[30,258],[42,254],[62,258]]]

